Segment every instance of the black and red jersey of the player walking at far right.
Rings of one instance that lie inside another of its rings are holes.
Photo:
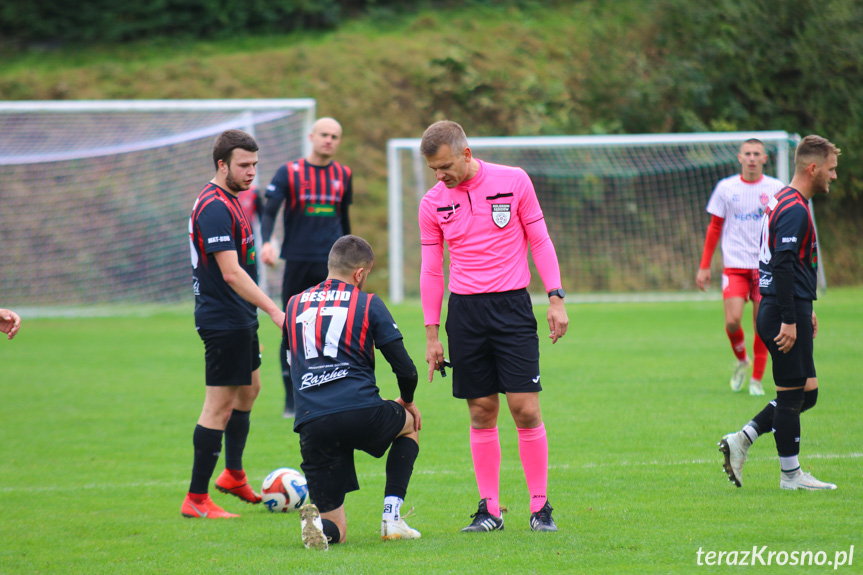
[[[761,222],[759,287],[761,295],[775,296],[772,260],[777,252],[792,251],[794,258],[794,297],[816,299],[818,281],[818,243],[809,202],[790,186],[782,188],[767,205]]]

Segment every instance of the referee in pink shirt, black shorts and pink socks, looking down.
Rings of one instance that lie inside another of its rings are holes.
[[[420,292],[429,381],[445,373],[439,339],[444,294],[443,249],[450,255],[446,332],[453,396],[467,400],[470,446],[480,502],[462,531],[503,529],[497,418],[506,394],[518,429],[530,494],[530,527],[557,531],[548,502],[548,441],[539,406],[539,337],[527,293],[527,251],[549,297],[552,343],[569,318],[554,245],[530,178],[521,168],[473,157],[459,124],[440,121],[423,134],[420,152],[438,183],[420,202]]]

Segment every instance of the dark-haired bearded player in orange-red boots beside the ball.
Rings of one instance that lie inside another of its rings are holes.
[[[228,130],[213,145],[216,176],[204,188],[189,218],[195,329],[204,342],[207,392],[192,437],[195,459],[186,517],[238,517],[210,499],[208,488],[225,436],[225,471],[216,488],[259,503],[243,471],[249,414],[261,389],[258,314],[261,308],[279,328],[285,314],[256,283],[255,241],[238,194],[249,189],[258,165],[258,144],[249,134]]]

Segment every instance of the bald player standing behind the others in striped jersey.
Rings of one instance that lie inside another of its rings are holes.
[[[351,233],[348,206],[353,201],[351,169],[333,160],[342,140],[342,127],[332,118],[321,118],[309,134],[312,151],[282,165],[267,186],[267,205],[261,214],[261,261],[275,265],[270,238],[276,215],[285,205],[285,238],[281,258],[285,260],[282,304],[292,295],[327,277],[327,256],[333,243]],[[285,349],[279,352],[285,385],[284,417],[294,416],[294,396]]]

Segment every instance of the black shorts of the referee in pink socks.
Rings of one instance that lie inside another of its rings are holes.
[[[539,336],[527,290],[451,294],[446,333],[454,397],[542,391]]]

